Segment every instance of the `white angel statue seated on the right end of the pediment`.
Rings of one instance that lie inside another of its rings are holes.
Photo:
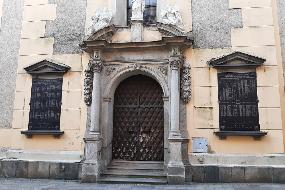
[[[172,25],[180,32],[185,32],[184,28],[182,27],[182,17],[179,13],[178,3],[175,4],[175,9],[173,9],[171,5],[166,5],[166,11],[161,10],[161,15],[163,18],[163,24]]]

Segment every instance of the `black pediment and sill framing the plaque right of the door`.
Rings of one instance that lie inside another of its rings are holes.
[[[233,52],[231,54],[214,58],[207,62],[213,68],[218,70],[218,78],[221,73],[242,73],[255,72],[256,68],[261,66],[266,60],[257,56],[252,56],[242,52]],[[256,79],[255,79],[256,80]],[[258,99],[257,99],[258,102]],[[218,100],[220,107],[220,100]],[[257,108],[258,109],[258,108]],[[220,117],[220,110],[219,110]],[[242,116],[241,116],[242,117]],[[259,123],[259,119],[258,119]],[[223,127],[223,128],[222,128]],[[256,127],[256,126],[255,126]],[[220,140],[227,139],[227,136],[252,136],[254,140],[261,140],[261,137],[267,135],[267,132],[258,130],[223,130],[225,126],[220,126],[220,130],[214,132]]]

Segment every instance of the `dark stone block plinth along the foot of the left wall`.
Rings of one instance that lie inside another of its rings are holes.
[[[62,168],[64,166],[64,169]],[[0,175],[3,177],[30,179],[78,180],[82,164],[77,162],[40,162],[17,159],[0,160]]]

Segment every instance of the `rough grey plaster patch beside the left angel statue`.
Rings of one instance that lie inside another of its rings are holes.
[[[53,54],[79,54],[84,38],[86,0],[48,0],[57,4],[56,20],[46,21],[45,37],[54,37]]]

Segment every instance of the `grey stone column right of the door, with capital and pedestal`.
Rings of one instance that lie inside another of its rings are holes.
[[[170,185],[184,185],[185,184],[185,169],[182,162],[182,138],[180,133],[180,97],[178,80],[178,69],[181,60],[170,60],[169,65],[171,69],[171,89],[170,89],[170,162],[167,166],[167,178]]]

